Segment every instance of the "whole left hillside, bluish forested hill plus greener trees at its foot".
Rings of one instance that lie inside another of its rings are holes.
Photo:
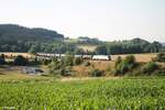
[[[64,51],[63,40],[64,35],[52,30],[0,24],[0,52],[51,52],[57,47]]]

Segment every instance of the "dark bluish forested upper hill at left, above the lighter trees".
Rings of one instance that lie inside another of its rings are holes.
[[[46,29],[29,29],[14,24],[0,24],[1,42],[48,42],[63,40],[64,35]]]

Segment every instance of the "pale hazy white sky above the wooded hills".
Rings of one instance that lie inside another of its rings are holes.
[[[0,0],[0,23],[69,37],[165,42],[165,0]]]

